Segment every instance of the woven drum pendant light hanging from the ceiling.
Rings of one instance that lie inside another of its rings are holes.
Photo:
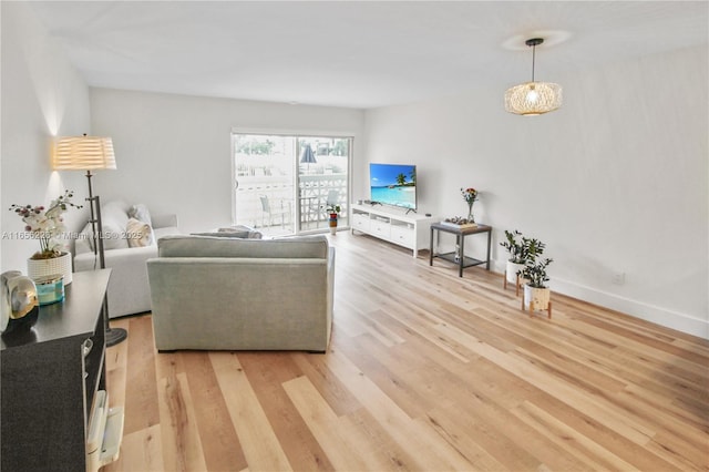
[[[534,81],[536,47],[542,38],[532,38],[525,44],[532,48],[532,81],[515,85],[505,92],[505,110],[523,116],[535,116],[553,112],[562,106],[562,86],[552,82]]]

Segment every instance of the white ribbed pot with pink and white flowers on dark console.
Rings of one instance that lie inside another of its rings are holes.
[[[71,199],[74,193],[65,191],[53,199],[49,207],[42,205],[11,205],[24,223],[24,230],[40,244],[40,250],[28,259],[28,275],[31,278],[62,275],[64,285],[71,284],[71,254],[63,253],[58,237],[64,234],[63,214],[71,207],[81,208]]]

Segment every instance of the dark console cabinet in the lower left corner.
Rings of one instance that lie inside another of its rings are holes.
[[[63,301],[40,307],[31,329],[0,339],[3,471],[89,470],[89,419],[105,390],[110,276],[111,269],[73,274]]]

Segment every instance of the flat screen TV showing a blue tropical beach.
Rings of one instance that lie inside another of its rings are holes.
[[[412,164],[369,164],[372,203],[417,209],[417,166]]]

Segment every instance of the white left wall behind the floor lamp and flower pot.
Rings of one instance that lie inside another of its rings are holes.
[[[0,143],[0,227],[2,271],[27,274],[27,258],[39,250],[35,240],[18,239],[24,224],[10,213],[11,204],[48,204],[74,189],[76,203],[86,196],[80,173],[52,172],[51,141],[55,135],[90,132],[89,88],[29,7],[1,2],[2,11],[2,142]],[[83,211],[65,214],[70,230]]]

